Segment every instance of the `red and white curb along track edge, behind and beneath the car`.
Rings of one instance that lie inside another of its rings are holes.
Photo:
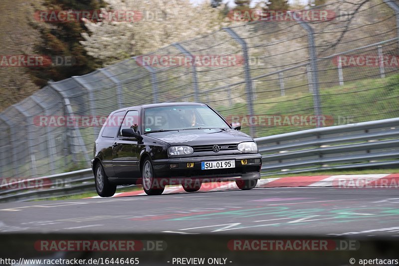
[[[339,188],[399,188],[399,174],[292,176],[258,180],[256,187],[339,187]],[[203,183],[199,191],[238,189],[234,181]],[[181,185],[165,188],[163,194],[187,193]],[[115,193],[113,197],[146,195],[143,190]],[[100,196],[90,197],[100,198]]]

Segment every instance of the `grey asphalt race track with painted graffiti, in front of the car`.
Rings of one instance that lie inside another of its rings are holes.
[[[399,193],[384,188],[256,188],[0,204],[0,232],[386,236]]]

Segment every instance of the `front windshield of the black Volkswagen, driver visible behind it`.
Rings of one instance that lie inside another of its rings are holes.
[[[144,132],[228,129],[228,125],[210,108],[202,105],[177,105],[146,108]]]

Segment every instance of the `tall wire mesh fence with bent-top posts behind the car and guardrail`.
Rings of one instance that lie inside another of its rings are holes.
[[[398,1],[307,11],[319,16],[260,16],[49,82],[0,114],[1,176],[86,168],[97,119],[134,105],[207,103],[254,137],[398,117]]]

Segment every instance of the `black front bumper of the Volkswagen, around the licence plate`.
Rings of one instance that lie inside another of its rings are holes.
[[[235,160],[234,168],[201,170],[203,161]],[[247,160],[242,164],[241,160]],[[194,167],[188,167],[194,163]],[[171,168],[171,164],[178,165]],[[200,182],[231,181],[237,179],[260,179],[262,155],[259,153],[231,154],[218,156],[183,157],[153,160],[157,178],[191,179]]]

